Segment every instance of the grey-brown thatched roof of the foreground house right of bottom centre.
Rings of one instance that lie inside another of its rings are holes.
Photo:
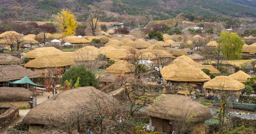
[[[166,120],[182,121],[195,114],[193,122],[203,122],[211,118],[210,111],[188,96],[166,94],[161,100],[144,110],[150,117]]]

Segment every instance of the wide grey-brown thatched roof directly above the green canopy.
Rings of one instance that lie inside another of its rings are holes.
[[[25,76],[28,76],[29,78],[38,78],[41,75],[20,65],[0,66],[0,82],[22,79]]]

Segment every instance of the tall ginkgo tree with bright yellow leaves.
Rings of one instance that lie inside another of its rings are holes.
[[[57,15],[57,22],[61,28],[61,34],[63,37],[68,35],[74,35],[76,28],[78,27],[75,15],[71,14],[70,11],[62,10]]]

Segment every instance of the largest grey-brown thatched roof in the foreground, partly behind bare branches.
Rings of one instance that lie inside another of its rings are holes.
[[[51,116],[53,121],[61,122],[61,120],[58,120],[59,116],[69,117],[69,112],[76,110],[79,106],[89,106],[92,97],[98,95],[101,95],[101,99],[106,103],[111,102],[118,104],[116,99],[94,87],[79,87],[56,94],[50,99],[37,105],[27,113],[23,119],[23,123],[50,124],[54,126],[54,123],[50,122],[47,118],[50,118]],[[94,108],[94,106],[91,108]]]

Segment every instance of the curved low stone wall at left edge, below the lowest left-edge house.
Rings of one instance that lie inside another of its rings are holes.
[[[0,130],[11,123],[19,116],[19,107],[17,105],[0,105],[0,109],[6,110],[0,115]]]

